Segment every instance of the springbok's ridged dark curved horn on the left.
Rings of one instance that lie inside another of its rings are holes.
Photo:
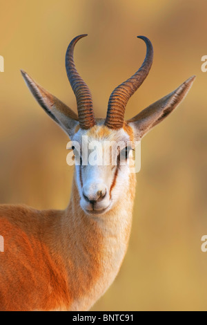
[[[72,39],[66,52],[66,72],[68,80],[72,86],[77,100],[77,110],[79,113],[79,124],[81,129],[90,129],[95,125],[95,116],[92,108],[92,95],[87,84],[83,81],[75,67],[73,53],[75,44],[79,39],[87,35],[79,35]]]

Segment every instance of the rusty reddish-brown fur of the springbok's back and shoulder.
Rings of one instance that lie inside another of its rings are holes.
[[[0,214],[0,310],[54,310],[68,303],[66,265],[48,246],[62,213],[3,205]]]

